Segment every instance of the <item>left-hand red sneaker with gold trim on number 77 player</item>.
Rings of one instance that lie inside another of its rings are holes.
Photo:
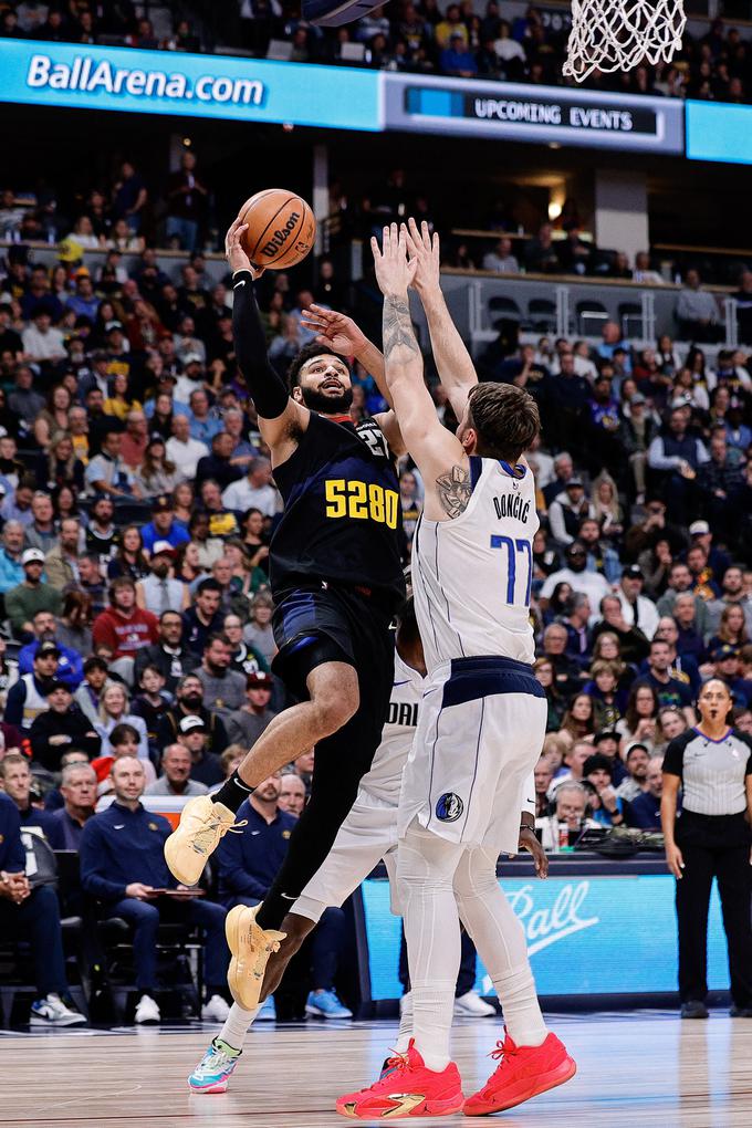
[[[337,1112],[354,1120],[399,1120],[448,1117],[462,1109],[462,1082],[453,1061],[441,1073],[426,1069],[410,1039],[407,1054],[398,1054],[384,1065],[387,1068],[370,1089],[340,1096]]]

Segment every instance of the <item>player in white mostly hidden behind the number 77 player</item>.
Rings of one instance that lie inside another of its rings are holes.
[[[266,998],[280,984],[284,969],[299,950],[306,936],[321,919],[324,910],[340,906],[383,860],[392,892],[392,911],[399,914],[396,902],[397,809],[402,770],[413,743],[421,699],[425,662],[412,600],[401,609],[396,629],[395,684],[389,702],[381,744],[373,758],[371,770],[361,781],[353,808],[339,828],[326,862],[311,878],[291,910],[293,929],[291,945],[285,944],[269,960],[262,990]],[[532,781],[530,781],[532,788]],[[530,791],[533,795],[533,791]],[[534,858],[540,876],[548,873],[548,862],[534,836],[534,800],[525,803],[530,818],[521,829],[519,849],[528,849]],[[458,896],[462,890],[458,889]],[[471,898],[469,899],[471,902]],[[467,922],[466,922],[467,923]],[[194,1092],[223,1093],[240,1057],[248,1026],[258,1008],[248,1011],[235,1003],[220,1033],[214,1038],[188,1078]],[[412,1007],[402,1010],[395,1051],[407,1050],[412,1036]]]

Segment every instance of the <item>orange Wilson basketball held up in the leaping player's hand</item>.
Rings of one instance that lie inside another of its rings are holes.
[[[300,263],[313,246],[316,220],[294,192],[266,188],[247,200],[240,218],[248,224],[242,246],[254,266],[285,270]]]

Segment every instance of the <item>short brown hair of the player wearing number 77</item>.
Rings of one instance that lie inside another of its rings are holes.
[[[514,462],[540,431],[536,400],[513,384],[479,384],[469,400],[479,455]]]

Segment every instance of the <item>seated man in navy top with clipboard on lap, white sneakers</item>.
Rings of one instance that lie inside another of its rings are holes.
[[[89,819],[81,836],[81,883],[104,904],[107,916],[133,927],[133,958],[141,994],[135,1021],[160,1021],[153,998],[157,988],[157,932],[160,922],[197,924],[204,931],[206,1021],[223,1022],[229,1014],[223,993],[230,953],[224,938],[225,910],[177,885],[165,862],[165,841],[171,827],[161,814],[141,805],[144,772],[140,760],[124,756],[113,763],[115,801]],[[171,892],[171,896],[166,893]],[[175,892],[184,897],[175,896]]]

